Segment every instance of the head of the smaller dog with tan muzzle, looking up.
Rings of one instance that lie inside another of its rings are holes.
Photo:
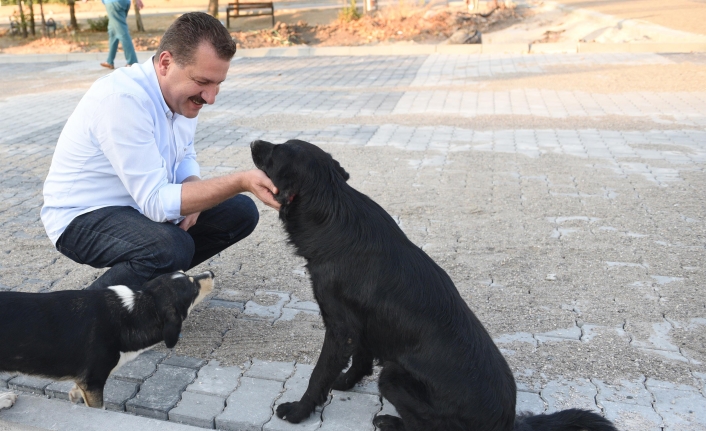
[[[211,271],[193,277],[179,271],[159,276],[142,286],[141,290],[154,298],[157,314],[164,325],[164,343],[168,348],[176,345],[181,323],[186,316],[213,291],[213,278]]]

